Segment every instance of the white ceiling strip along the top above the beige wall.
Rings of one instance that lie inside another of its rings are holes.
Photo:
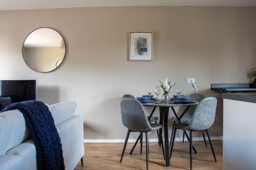
[[[256,6],[256,0],[0,0],[0,10],[105,6]]]

